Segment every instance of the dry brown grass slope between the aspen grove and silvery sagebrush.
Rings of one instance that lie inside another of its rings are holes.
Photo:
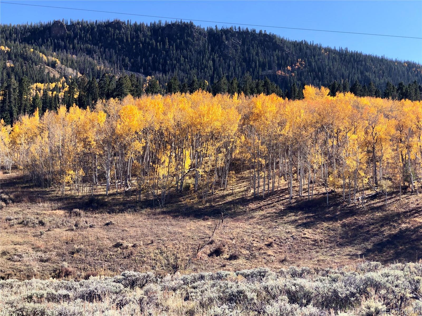
[[[284,190],[253,199],[241,185],[234,194],[217,192],[212,206],[189,203],[187,195],[157,208],[115,194],[61,196],[25,184],[18,171],[0,177],[2,279],[341,267],[422,256],[420,195],[348,206],[337,193],[326,207],[323,191],[289,204]]]

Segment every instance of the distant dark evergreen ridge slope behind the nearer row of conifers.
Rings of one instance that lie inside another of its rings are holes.
[[[250,72],[253,79],[268,76],[282,89],[292,83],[329,86],[334,80],[358,80],[362,86],[372,81],[381,90],[387,81],[395,85],[422,82],[420,64],[286,40],[240,27],[204,29],[186,22],[147,25],[129,21],[55,21],[2,25],[1,41],[10,48],[7,57],[14,64],[13,70],[2,71],[3,81],[11,73],[15,80],[22,75],[33,82],[46,80],[41,78],[43,72],[31,67],[40,62],[26,53],[25,48],[32,48],[47,56],[55,55],[62,64],[97,79],[103,72],[127,70],[154,75],[165,82],[177,75],[181,82],[197,78],[210,83],[222,76],[229,80],[242,78]],[[5,57],[2,59],[4,63]]]

